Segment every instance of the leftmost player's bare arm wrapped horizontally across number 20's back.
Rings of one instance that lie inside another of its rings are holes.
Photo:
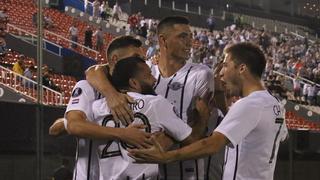
[[[72,110],[67,112],[67,132],[71,135],[103,140],[120,140],[136,147],[149,147],[150,134],[140,131],[141,125],[129,128],[111,128],[94,124],[87,120],[84,112]]]

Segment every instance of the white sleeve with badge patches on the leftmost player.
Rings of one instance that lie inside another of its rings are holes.
[[[72,110],[78,110],[84,112],[87,118],[92,120],[92,103],[94,100],[94,89],[87,81],[79,81],[72,90],[65,114]]]

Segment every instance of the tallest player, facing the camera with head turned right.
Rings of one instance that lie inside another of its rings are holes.
[[[160,46],[158,65],[150,65],[152,75],[157,79],[155,92],[170,101],[176,108],[183,122],[188,122],[187,110],[195,96],[202,96],[213,91],[213,73],[204,65],[186,63],[192,46],[192,33],[189,20],[184,17],[167,17],[157,27]],[[149,63],[149,62],[148,62]],[[98,77],[97,75],[94,77]],[[100,72],[100,77],[103,73]],[[89,80],[90,81],[90,80]],[[99,80],[103,82],[103,80]],[[103,88],[104,83],[93,84],[96,89]],[[163,179],[197,179],[205,176],[204,161],[190,160],[165,165],[161,168]]]

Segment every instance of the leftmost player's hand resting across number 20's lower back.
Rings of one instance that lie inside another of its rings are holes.
[[[152,146],[151,134],[142,131],[145,128],[143,124],[130,124],[125,129],[121,140],[137,148],[150,148]]]

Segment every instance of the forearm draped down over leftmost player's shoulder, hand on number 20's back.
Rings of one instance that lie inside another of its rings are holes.
[[[109,67],[107,64],[94,65],[86,70],[86,79],[96,90],[98,90],[108,102],[108,107],[115,120],[129,124],[133,119],[133,112],[128,103],[133,100],[126,94],[119,93],[107,77]]]

